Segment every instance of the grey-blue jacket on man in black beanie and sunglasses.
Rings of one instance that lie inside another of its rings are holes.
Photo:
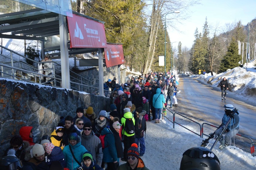
[[[96,161],[97,165],[101,166],[103,158],[102,144],[93,131],[89,136],[85,136],[84,133],[81,134],[81,145],[83,145],[87,151],[92,153],[93,160]]]

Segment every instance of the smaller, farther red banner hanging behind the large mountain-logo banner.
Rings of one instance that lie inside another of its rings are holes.
[[[124,63],[123,45],[107,44],[104,53],[107,67]]]

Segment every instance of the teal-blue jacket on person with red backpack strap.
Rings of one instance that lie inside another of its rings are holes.
[[[115,145],[115,138],[109,128],[104,128],[101,135],[106,135],[104,138],[105,148],[103,149],[103,159],[105,163],[117,161],[117,150]]]

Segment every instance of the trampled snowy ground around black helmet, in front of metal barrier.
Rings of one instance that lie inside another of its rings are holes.
[[[172,114],[169,111],[167,111],[167,117],[172,120]],[[200,146],[203,140],[200,136],[191,133],[177,124],[175,124],[175,129],[173,129],[172,122],[167,119],[165,120],[159,124],[154,123],[154,121],[147,122],[146,151],[142,160],[151,170],[178,170],[184,151]],[[185,124],[186,122],[182,123]],[[214,140],[211,144],[213,142]],[[211,144],[207,148],[211,148]],[[251,156],[251,154],[235,146],[226,147],[222,151],[218,147],[219,142],[212,151],[220,160],[221,170],[256,169],[256,157]]]

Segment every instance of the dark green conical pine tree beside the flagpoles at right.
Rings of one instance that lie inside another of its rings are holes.
[[[221,61],[220,72],[225,72],[227,69],[233,69],[239,66],[239,61],[241,60],[240,55],[238,55],[238,47],[236,40],[233,37],[230,45],[227,48],[227,53]]]

